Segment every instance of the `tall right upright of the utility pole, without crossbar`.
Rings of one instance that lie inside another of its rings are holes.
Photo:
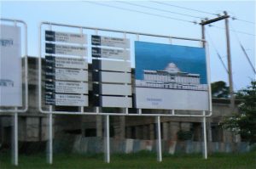
[[[228,15],[224,11],[225,15]],[[230,28],[229,28],[229,18],[225,18],[225,29],[226,29],[226,39],[227,39],[227,58],[228,58],[228,70],[229,70],[229,82],[230,82],[230,109],[231,111],[235,108],[235,95],[233,89],[233,77],[232,77],[232,63],[231,63],[231,53],[230,53]]]

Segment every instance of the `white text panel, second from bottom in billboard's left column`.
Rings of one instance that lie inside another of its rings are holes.
[[[55,93],[88,93],[87,82],[55,82]]]

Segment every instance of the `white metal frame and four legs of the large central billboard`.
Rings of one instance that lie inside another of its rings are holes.
[[[130,114],[128,112],[128,108],[125,108],[125,111],[122,111],[120,113],[107,113],[107,112],[100,112],[99,107],[96,107],[96,111],[93,112],[84,112],[84,107],[80,107],[80,111],[55,111],[52,110],[52,105],[49,105],[49,110],[43,110],[42,108],[42,26],[48,25],[49,30],[51,30],[51,26],[60,26],[60,27],[69,27],[69,28],[77,28],[80,29],[80,32],[82,33],[84,29],[95,31],[96,35],[98,31],[109,31],[109,32],[115,32],[115,33],[123,33],[124,37],[126,37],[127,34],[135,35],[137,36],[137,40],[139,40],[140,36],[146,36],[146,37],[163,37],[169,39],[170,43],[172,42],[172,39],[178,39],[178,40],[184,40],[184,41],[194,41],[194,42],[201,42],[201,46],[206,46],[206,62],[207,62],[207,82],[208,82],[208,100],[209,100],[209,110],[194,110],[194,111],[200,111],[200,115],[191,115],[191,114],[177,114],[175,110],[172,110],[170,114],[150,114],[150,113],[143,113],[142,109],[137,109],[137,114]],[[135,31],[119,31],[119,30],[111,30],[111,29],[105,29],[105,28],[96,28],[96,27],[88,27],[88,26],[81,26],[81,25],[67,25],[67,24],[59,24],[59,23],[53,23],[53,22],[41,22],[38,28],[38,109],[41,113],[48,114],[49,115],[49,158],[48,162],[49,164],[53,163],[53,148],[52,148],[52,115],[104,115],[106,120],[105,127],[107,130],[105,130],[105,161],[110,162],[110,141],[109,141],[109,115],[124,115],[124,116],[155,116],[156,122],[157,122],[157,136],[158,136],[158,157],[157,161],[162,161],[162,151],[161,151],[161,133],[160,133],[160,117],[161,116],[176,116],[176,117],[201,117],[202,118],[202,126],[203,126],[203,133],[204,133],[204,158],[207,159],[207,126],[206,126],[206,118],[212,115],[212,94],[211,94],[211,73],[210,73],[210,59],[209,59],[209,53],[208,53],[208,43],[205,39],[196,39],[196,38],[188,38],[188,37],[172,37],[172,36],[165,36],[165,35],[156,35],[156,34],[149,34],[149,33],[141,33],[141,32],[135,32]]]

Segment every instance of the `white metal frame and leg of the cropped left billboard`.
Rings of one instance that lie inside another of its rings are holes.
[[[22,79],[22,82],[25,82],[25,105],[22,105],[22,108],[20,109],[19,107],[12,107],[12,106],[8,106],[8,108],[6,109],[6,107],[4,109],[2,109],[2,107],[0,107],[0,115],[4,114],[4,115],[9,115],[9,113],[12,113],[11,115],[14,115],[14,120],[13,120],[13,144],[12,144],[12,163],[15,166],[18,166],[19,163],[19,146],[18,146],[18,114],[19,113],[25,113],[28,110],[28,76],[27,76],[27,70],[28,70],[28,65],[27,65],[27,25],[26,22],[23,20],[15,20],[15,19],[8,19],[8,18],[0,18],[1,20],[1,24],[3,23],[12,23],[15,26],[18,26],[17,24],[21,24],[24,28],[24,66],[25,66],[25,72],[24,72],[24,78]],[[22,35],[22,33],[21,33]],[[21,42],[22,44],[22,42]],[[21,46],[21,48],[23,48]],[[20,56],[22,58],[22,54]],[[23,69],[23,68],[22,68]],[[22,87],[23,90],[23,87]],[[23,101],[22,101],[23,102]],[[23,103],[22,103],[23,104]],[[4,107],[4,106],[3,106]]]

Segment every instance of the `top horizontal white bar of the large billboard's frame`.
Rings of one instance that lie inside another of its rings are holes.
[[[67,25],[67,24],[58,24],[53,22],[41,22],[41,25],[59,25],[59,26],[67,26],[67,27],[76,27],[76,28],[84,28],[84,29],[90,29],[90,30],[98,30],[98,31],[113,31],[113,32],[119,32],[119,33],[128,33],[128,34],[134,34],[134,35],[142,35],[142,36],[148,36],[148,37],[166,37],[166,38],[172,38],[172,39],[180,39],[180,40],[187,40],[187,41],[200,41],[205,42],[205,39],[197,39],[197,38],[188,38],[188,37],[172,37],[172,36],[166,36],[166,35],[156,35],[156,34],[150,34],[150,33],[142,33],[142,32],[136,32],[136,31],[120,31],[120,30],[111,30],[106,28],[96,28],[96,27],[89,27],[89,26],[80,26],[80,25]]]

